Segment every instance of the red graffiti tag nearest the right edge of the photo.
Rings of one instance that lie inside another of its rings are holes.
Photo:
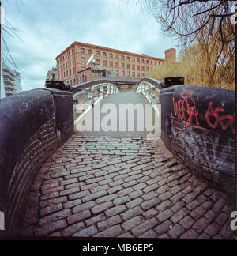
[[[205,113],[205,119],[208,125],[215,129],[220,124],[223,130],[228,130],[231,127],[231,131],[235,134],[235,114],[234,115],[220,115],[224,112],[224,108],[216,107],[213,109],[213,102],[209,102],[208,110]],[[214,122],[211,122],[210,117],[213,117]]]

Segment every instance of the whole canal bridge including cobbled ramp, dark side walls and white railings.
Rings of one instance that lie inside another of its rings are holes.
[[[0,235],[234,237],[235,93],[133,83],[130,93],[98,79],[1,100]],[[146,107],[155,136],[138,125]]]

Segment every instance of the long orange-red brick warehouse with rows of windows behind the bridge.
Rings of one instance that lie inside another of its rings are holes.
[[[92,54],[95,64],[87,65]],[[58,80],[78,85],[98,76],[140,78],[170,58],[176,58],[174,48],[165,51],[164,59],[76,41],[56,57]]]

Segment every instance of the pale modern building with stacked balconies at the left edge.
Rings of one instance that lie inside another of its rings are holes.
[[[1,63],[1,98],[22,92],[21,74]]]

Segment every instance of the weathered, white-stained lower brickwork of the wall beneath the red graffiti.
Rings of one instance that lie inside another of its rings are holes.
[[[186,166],[219,190],[235,190],[235,141],[171,117],[171,148]]]

